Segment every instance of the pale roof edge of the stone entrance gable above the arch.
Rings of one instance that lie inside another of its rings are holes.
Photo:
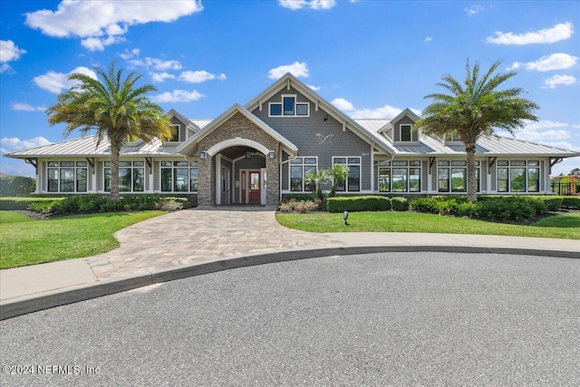
[[[189,137],[183,144],[179,145],[177,151],[181,154],[196,154],[198,153],[198,142],[205,138],[209,133],[216,130],[221,124],[232,118],[236,113],[241,113],[249,121],[252,121],[262,131],[266,131],[268,135],[282,144],[285,150],[289,150],[291,154],[295,154],[298,148],[290,140],[285,139],[280,133],[272,129],[266,122],[259,120],[254,114],[247,111],[239,104],[235,103],[227,111],[224,111],[217,119],[209,122],[202,130],[196,132]]]

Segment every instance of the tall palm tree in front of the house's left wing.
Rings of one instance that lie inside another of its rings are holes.
[[[115,70],[115,61],[105,73],[94,67],[102,81],[82,73],[73,73],[69,80],[77,81],[71,89],[58,96],[58,102],[48,108],[51,126],[66,123],[63,135],[76,129],[82,135],[97,131],[97,147],[106,137],[111,143],[111,200],[119,199],[119,154],[127,140],[171,137],[172,126],[163,109],[150,102],[146,94],[157,89],[150,85],[135,87],[142,74],[129,73],[121,79],[124,69]]]

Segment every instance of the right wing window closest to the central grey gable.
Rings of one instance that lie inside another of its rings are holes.
[[[396,160],[379,164],[380,192],[420,192],[420,161]]]

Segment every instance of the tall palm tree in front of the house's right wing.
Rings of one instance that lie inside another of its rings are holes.
[[[501,62],[493,63],[488,72],[479,77],[479,63],[473,68],[466,65],[466,77],[461,85],[449,74],[441,79],[438,86],[449,92],[433,93],[425,96],[435,102],[422,111],[423,118],[415,128],[422,128],[425,134],[440,137],[459,134],[465,144],[468,164],[468,198],[477,201],[477,180],[475,169],[475,144],[484,135],[490,135],[495,128],[505,129],[511,134],[514,129],[525,127],[526,121],[537,121],[533,111],[539,109],[536,103],[522,98],[521,88],[496,90],[498,86],[516,75],[515,72],[493,74]]]

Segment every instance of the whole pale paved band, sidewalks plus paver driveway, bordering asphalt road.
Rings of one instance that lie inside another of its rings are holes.
[[[0,319],[228,268],[374,252],[497,253],[580,258],[580,241],[426,233],[314,234],[267,208],[177,211],[118,232],[100,256],[0,270]]]

